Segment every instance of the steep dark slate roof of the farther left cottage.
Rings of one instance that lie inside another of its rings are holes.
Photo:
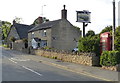
[[[28,31],[34,27],[33,25],[25,25],[25,24],[18,24],[18,23],[14,23],[13,26],[16,28],[20,39],[27,38]]]

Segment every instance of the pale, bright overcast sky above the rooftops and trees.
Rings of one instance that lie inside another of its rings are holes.
[[[76,11],[88,10],[91,12],[91,23],[86,27],[95,33],[100,33],[106,26],[113,24],[113,0],[0,0],[0,20],[12,23],[15,17],[22,18],[22,24],[30,25],[39,17],[44,16],[50,21],[61,19],[61,10],[66,5],[67,20],[80,27],[83,24],[76,22]],[[116,1],[116,26],[118,25],[118,2]],[[44,6],[46,5],[46,6]],[[42,8],[43,7],[43,8]],[[42,15],[43,10],[43,15]]]

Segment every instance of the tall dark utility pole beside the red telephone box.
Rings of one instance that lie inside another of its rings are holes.
[[[114,41],[115,41],[115,0],[113,0],[113,27],[112,27],[112,50],[115,50],[115,45],[114,45]]]

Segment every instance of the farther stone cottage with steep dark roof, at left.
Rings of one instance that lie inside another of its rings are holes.
[[[33,26],[19,24],[13,21],[13,25],[10,27],[10,32],[8,33],[7,37],[7,45],[15,50],[25,49],[28,47],[27,39],[28,39],[28,31],[32,29]],[[12,42],[10,39],[13,37],[15,42]],[[26,42],[25,42],[26,40]]]

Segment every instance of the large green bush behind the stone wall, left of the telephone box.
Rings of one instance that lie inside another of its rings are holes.
[[[100,55],[100,38],[99,35],[93,37],[88,36],[79,40],[78,49],[79,52],[94,52]]]

